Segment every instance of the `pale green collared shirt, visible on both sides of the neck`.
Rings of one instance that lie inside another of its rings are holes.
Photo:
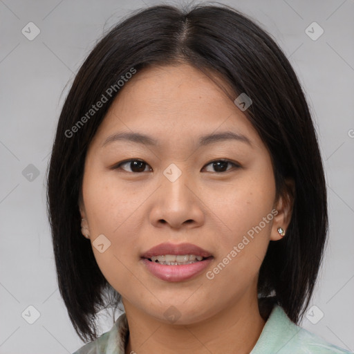
[[[73,354],[124,354],[129,334],[127,316],[120,315],[111,330]],[[250,354],[338,354],[351,353],[297,326],[279,305],[272,312]]]

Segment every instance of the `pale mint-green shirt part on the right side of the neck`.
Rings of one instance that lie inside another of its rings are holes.
[[[353,354],[344,348],[326,342],[319,335],[297,326],[275,305],[262,333],[250,354]]]

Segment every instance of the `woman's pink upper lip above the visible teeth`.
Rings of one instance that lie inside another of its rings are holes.
[[[140,257],[145,259],[150,259],[153,256],[160,256],[163,254],[194,254],[196,256],[201,256],[203,258],[212,257],[212,254],[203,248],[193,245],[192,243],[160,243],[153,248],[150,248],[147,252],[144,252]]]

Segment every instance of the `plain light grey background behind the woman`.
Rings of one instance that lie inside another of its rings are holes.
[[[156,3],[0,0],[0,353],[82,346],[57,290],[46,216],[50,147],[64,97],[96,40],[131,10]],[[311,302],[317,307],[302,326],[354,351],[354,1],[225,3],[274,36],[308,95],[326,168],[330,233]],[[21,32],[30,21],[40,29],[32,41]],[[309,37],[320,33],[317,25],[308,28],[313,21],[324,30],[317,40]],[[40,313],[33,324],[30,305]],[[102,317],[102,331],[109,328]]]

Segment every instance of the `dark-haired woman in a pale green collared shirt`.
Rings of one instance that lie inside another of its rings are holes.
[[[306,98],[232,8],[153,6],[104,36],[59,118],[48,206],[59,289],[91,341],[75,354],[349,353],[297,326],[328,225]]]

